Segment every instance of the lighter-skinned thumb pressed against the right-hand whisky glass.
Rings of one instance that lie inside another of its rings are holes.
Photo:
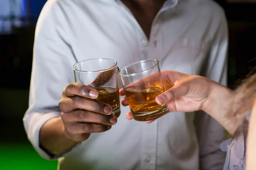
[[[186,96],[189,93],[189,85],[176,84],[169,90],[163,92],[156,97],[156,102],[159,105],[167,104],[175,98]]]

